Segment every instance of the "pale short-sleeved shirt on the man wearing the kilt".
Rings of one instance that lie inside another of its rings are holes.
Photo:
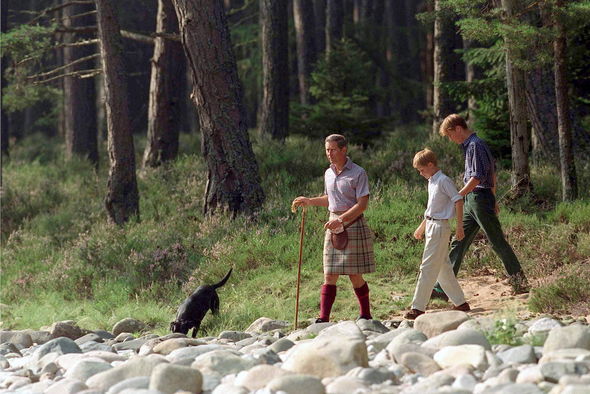
[[[331,165],[324,174],[324,194],[328,195],[330,212],[346,211],[360,197],[369,195],[369,177],[365,170],[346,158],[344,169],[336,175],[336,166]]]

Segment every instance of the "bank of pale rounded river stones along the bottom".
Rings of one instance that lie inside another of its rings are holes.
[[[590,393],[586,320],[502,322],[444,311],[415,322],[342,321],[296,331],[260,318],[244,332],[197,339],[130,334],[143,328],[125,319],[111,332],[74,322],[1,331],[0,392]],[[512,346],[490,344],[502,333]]]

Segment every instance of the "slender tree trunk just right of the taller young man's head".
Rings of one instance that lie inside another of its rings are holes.
[[[502,0],[502,7],[509,19],[514,18],[519,10],[519,0]],[[508,106],[510,111],[510,145],[512,148],[511,183],[515,195],[520,196],[531,191],[529,169],[529,128],[527,126],[527,107],[525,97],[524,71],[514,66],[516,56],[513,44],[506,42],[506,87],[508,88]]]

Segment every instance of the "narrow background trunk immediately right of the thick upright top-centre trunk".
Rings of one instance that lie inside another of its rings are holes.
[[[264,2],[264,0],[262,1]],[[274,7],[277,6],[275,5]],[[295,38],[297,42],[299,101],[301,104],[311,104],[312,100],[309,93],[311,71],[317,60],[314,38],[315,22],[313,15],[313,0],[293,0],[293,19],[295,21]]]

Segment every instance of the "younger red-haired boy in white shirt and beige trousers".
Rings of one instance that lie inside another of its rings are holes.
[[[426,244],[412,308],[404,317],[413,320],[424,314],[432,286],[437,280],[455,305],[453,309],[467,312],[471,308],[465,302],[465,295],[449,260],[449,219],[453,216],[457,218],[455,238],[461,240],[464,237],[463,198],[451,179],[438,168],[433,151],[424,149],[416,153],[413,166],[420,175],[428,179],[428,206],[424,212],[424,220],[414,231],[416,239],[422,239],[426,235]]]

